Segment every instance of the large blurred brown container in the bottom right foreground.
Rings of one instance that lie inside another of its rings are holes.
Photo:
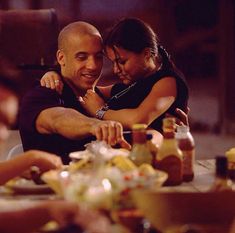
[[[235,192],[161,192],[133,190],[143,215],[160,231],[185,224],[228,229],[235,217]],[[224,232],[227,232],[226,230]]]

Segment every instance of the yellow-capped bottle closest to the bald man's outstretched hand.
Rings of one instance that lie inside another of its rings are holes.
[[[152,154],[147,147],[145,124],[134,124],[132,127],[132,150],[129,159],[140,166],[143,163],[152,164]]]

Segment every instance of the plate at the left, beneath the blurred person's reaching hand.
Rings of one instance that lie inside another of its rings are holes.
[[[17,178],[9,181],[6,185],[17,194],[49,194],[53,190],[47,184],[35,184],[32,180]]]

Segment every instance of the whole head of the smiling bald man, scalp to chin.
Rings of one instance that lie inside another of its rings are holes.
[[[64,81],[78,96],[85,95],[103,67],[103,43],[97,28],[83,21],[64,27],[58,37],[57,61]]]

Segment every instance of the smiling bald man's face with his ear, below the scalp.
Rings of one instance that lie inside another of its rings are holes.
[[[85,94],[100,76],[103,66],[102,41],[98,35],[71,35],[57,58],[66,82]]]

